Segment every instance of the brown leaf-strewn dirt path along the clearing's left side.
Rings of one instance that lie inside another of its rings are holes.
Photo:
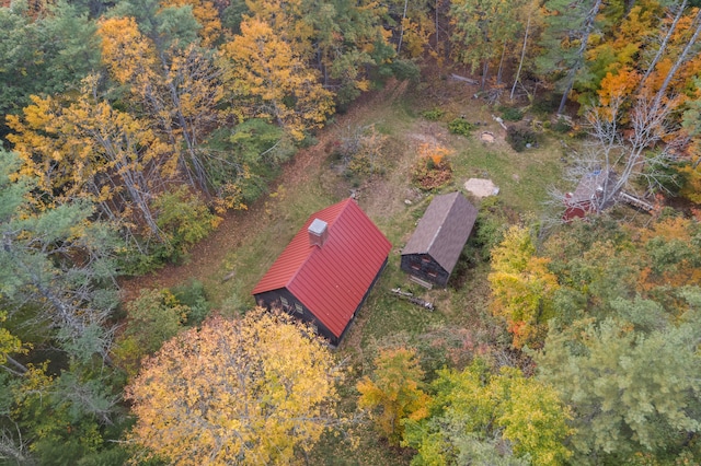
[[[382,91],[361,97],[345,115],[336,117],[334,126],[319,132],[319,142],[315,145],[300,150],[284,166],[283,174],[278,179],[285,179],[290,191],[294,191],[296,186],[309,182],[313,172],[310,167],[323,163],[327,156],[327,148],[338,137],[338,132],[343,128],[363,121],[377,106],[387,105],[388,101],[391,102],[400,96],[405,88],[404,83],[389,83]],[[274,190],[275,186],[271,191]],[[169,264],[151,275],[122,279],[119,281],[122,299],[124,301],[133,300],[138,295],[139,290],[145,288],[171,288],[192,278],[211,277],[221,269],[221,263],[225,258],[222,252],[238,247],[256,233],[266,199],[267,196],[263,196],[249,206],[248,210],[227,212],[217,231],[192,248],[186,263],[182,265]]]

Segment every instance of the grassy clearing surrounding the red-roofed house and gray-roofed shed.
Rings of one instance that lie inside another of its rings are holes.
[[[455,93],[455,89],[448,91]],[[499,186],[504,203],[519,215],[530,212],[538,217],[548,186],[556,184],[562,173],[561,149],[555,140],[545,139],[538,149],[517,153],[506,143],[505,131],[492,120],[491,109],[476,106],[479,103],[469,97],[459,94],[439,102],[422,101],[416,93],[402,94],[401,86],[383,95],[384,102],[368,106],[350,121],[326,130],[331,135],[327,139],[334,140],[355,127],[375,125],[377,131],[387,137],[381,176],[348,179],[332,168],[327,153],[318,151],[300,168],[304,171],[301,180],[279,179],[279,187],[250,212],[256,215],[255,231],[242,235],[237,247],[221,251],[219,268],[210,276],[199,278],[222,313],[235,315],[250,308],[254,305],[250,295],[254,284],[308,215],[341,200],[349,189],[357,190],[360,207],[384,232],[393,248],[387,269],[337,351],[338,357],[348,360],[353,368],[352,376],[341,387],[348,413],[355,410],[355,384],[369,373],[372,357],[382,346],[418,341],[430,349],[436,341],[452,341],[455,352],[464,356],[470,348],[507,341],[501,324],[489,315],[489,264],[482,261],[479,254],[469,252],[470,260],[460,264],[460,270],[455,273],[457,277],[446,290],[424,290],[411,283],[399,268],[401,247],[432,199],[430,194],[421,193],[411,184],[411,167],[417,158],[418,145],[434,143],[451,151],[453,179],[440,193],[463,190],[462,186],[470,177],[489,177]],[[439,121],[421,117],[422,112],[435,107],[445,110]],[[447,121],[460,115],[469,115],[480,123],[471,137],[448,132]],[[496,140],[492,143],[481,141],[481,131],[493,132]],[[471,200],[480,205],[478,199]],[[222,284],[221,277],[230,273],[234,278]],[[433,302],[436,311],[398,299],[389,292],[397,287]],[[430,370],[455,356],[449,354],[453,350],[436,348]],[[411,454],[390,448],[368,426],[358,427],[357,436],[360,445],[353,450],[343,439],[329,435],[311,452],[308,463],[405,465],[411,459]]]

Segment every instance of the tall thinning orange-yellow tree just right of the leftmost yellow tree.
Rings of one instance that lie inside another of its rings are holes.
[[[181,176],[207,200],[226,198],[228,186],[212,183],[211,164],[219,156],[207,152],[203,141],[225,115],[219,108],[225,90],[214,54],[196,44],[159,40],[139,31],[133,18],[102,20],[102,61],[111,77],[125,85],[135,107],[143,107],[159,137],[170,145],[171,160],[163,163],[169,177]],[[223,199],[227,207],[237,200]]]

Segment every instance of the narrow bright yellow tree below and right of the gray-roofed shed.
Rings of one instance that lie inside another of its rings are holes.
[[[558,278],[548,270],[550,259],[536,256],[530,233],[512,226],[492,251],[491,310],[506,319],[514,347],[540,347],[553,317],[552,298]]]

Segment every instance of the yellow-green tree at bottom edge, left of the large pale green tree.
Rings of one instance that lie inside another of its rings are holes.
[[[403,444],[418,452],[412,464],[559,465],[571,455],[568,410],[553,387],[517,369],[491,374],[475,360],[438,371],[432,392],[429,416],[405,422]]]

